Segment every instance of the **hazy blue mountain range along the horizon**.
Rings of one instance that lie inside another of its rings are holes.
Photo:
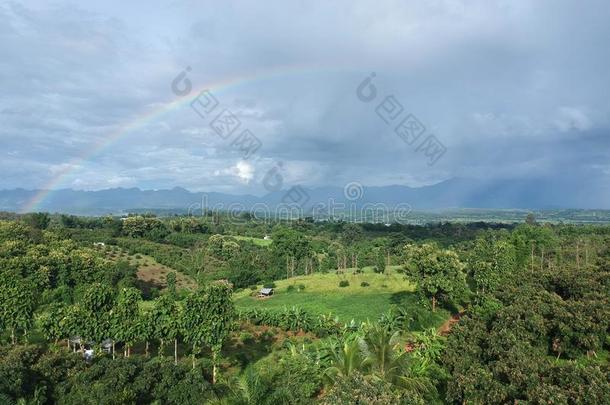
[[[605,187],[605,188],[604,188]],[[568,180],[503,180],[481,181],[451,179],[431,186],[364,187],[353,195],[345,195],[343,187],[303,188],[306,211],[315,207],[334,205],[362,207],[401,204],[416,211],[451,208],[485,209],[607,209],[610,208],[608,186]],[[0,191],[0,210],[22,211],[40,190]],[[134,210],[167,210],[197,212],[207,209],[251,210],[269,207],[276,209],[283,203],[298,200],[298,194],[277,191],[265,196],[232,195],[217,192],[191,192],[175,187],[171,190],[140,190],[112,188],[99,191],[61,189],[50,193],[35,207],[37,211],[80,215],[120,214]]]

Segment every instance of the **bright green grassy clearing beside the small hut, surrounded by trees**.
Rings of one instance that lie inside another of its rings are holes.
[[[349,281],[348,287],[339,287],[341,280]],[[369,283],[362,287],[362,282]],[[235,304],[238,308],[282,309],[298,306],[306,311],[317,314],[332,313],[342,322],[376,320],[391,308],[393,304],[402,303],[414,310],[419,307],[414,294],[415,286],[406,281],[402,275],[382,275],[372,272],[361,274],[334,273],[299,276],[290,280],[276,281],[273,297],[258,299],[250,296],[252,291],[244,290],[235,294]],[[295,289],[288,291],[288,286]],[[305,286],[298,291],[298,286]],[[438,310],[432,314],[426,311],[422,324],[426,327],[440,326],[449,313]]]

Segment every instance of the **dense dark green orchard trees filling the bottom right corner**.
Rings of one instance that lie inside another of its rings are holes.
[[[603,350],[609,280],[604,270],[545,269],[517,273],[494,296],[479,297],[447,341],[448,400],[607,402],[607,371],[561,358]]]

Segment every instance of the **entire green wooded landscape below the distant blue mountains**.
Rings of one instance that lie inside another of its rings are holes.
[[[237,229],[216,213],[131,217],[125,228],[117,218],[66,216],[57,231],[54,216],[47,230],[37,225],[43,217],[0,221],[0,327],[4,342],[13,331],[16,342],[0,346],[0,403],[610,402],[607,226],[530,221],[509,232],[512,225],[250,218]],[[256,239],[270,233],[273,242]],[[91,249],[113,238],[121,251],[160,258],[207,287],[174,292],[170,272],[168,291],[143,302],[136,269],[104,259],[113,246]],[[426,243],[402,249],[413,240]],[[388,253],[433,305],[464,303],[467,270],[473,292],[462,318],[443,325],[447,339],[427,329],[446,310],[422,307],[402,275],[373,274]],[[287,266],[309,275],[285,280]],[[217,279],[278,287],[269,300],[235,295],[245,309],[231,336],[232,292],[208,283]],[[338,288],[342,279],[367,288]],[[351,323],[320,315],[344,308]],[[59,344],[71,337],[83,348],[111,339],[134,354],[96,352],[85,362]],[[175,343],[200,360],[145,357],[149,342],[161,355]]]

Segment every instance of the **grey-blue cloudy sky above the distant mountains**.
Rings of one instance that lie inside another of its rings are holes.
[[[0,1],[0,189],[610,181],[606,0],[151,4]]]

